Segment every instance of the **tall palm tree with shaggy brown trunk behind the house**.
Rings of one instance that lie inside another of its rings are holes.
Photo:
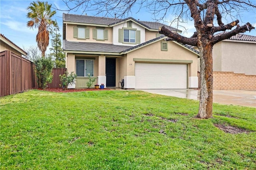
[[[31,2],[27,10],[27,18],[31,20],[27,22],[27,27],[38,28],[36,35],[37,46],[42,52],[42,57],[45,56],[46,48],[49,45],[49,31],[51,25],[57,25],[56,21],[51,18],[56,14],[56,11],[51,11],[51,4],[48,2]]]

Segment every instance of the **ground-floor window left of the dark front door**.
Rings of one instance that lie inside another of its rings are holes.
[[[94,76],[94,61],[86,59],[76,59],[76,74],[80,77]]]

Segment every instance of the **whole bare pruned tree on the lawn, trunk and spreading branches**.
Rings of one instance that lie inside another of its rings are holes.
[[[166,27],[160,27],[159,33],[166,35],[166,41],[177,41],[179,43],[198,47],[200,52],[200,105],[198,115],[200,118],[212,117],[213,99],[213,67],[212,49],[213,45],[236,35],[251,31],[254,27],[250,23],[238,25],[239,14],[242,11],[252,11],[256,4],[250,0],[66,0],[68,11],[83,9],[87,11],[98,11],[97,14],[112,16],[118,14],[125,17],[132,12],[135,5],[139,9],[145,8],[158,20],[164,20],[167,14],[174,14],[175,20],[194,20],[196,32],[190,38],[174,33]],[[224,24],[222,17],[229,16],[232,22]],[[218,25],[214,25],[214,21]],[[236,28],[234,28],[236,26]],[[226,30],[230,30],[226,32]],[[214,33],[222,31],[222,34],[214,36]]]

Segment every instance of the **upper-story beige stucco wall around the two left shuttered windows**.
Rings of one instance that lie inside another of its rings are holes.
[[[96,29],[96,26],[86,26],[86,28],[90,29],[90,39],[77,39],[74,38],[73,36],[73,27],[75,27],[77,25],[73,25],[73,24],[67,24],[67,28],[66,28],[66,39],[68,41],[80,41],[80,42],[94,42],[94,43],[109,43],[112,44],[112,27],[105,27],[105,29],[108,29],[108,40],[96,40],[96,39],[92,39],[92,30]]]

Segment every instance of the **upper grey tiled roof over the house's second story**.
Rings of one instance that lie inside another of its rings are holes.
[[[107,25],[109,27],[114,26],[118,23],[122,23],[128,20],[132,20],[139,25],[142,25],[146,29],[156,29],[160,26],[163,26],[165,24],[159,23],[159,22],[150,22],[150,21],[139,21],[132,17],[125,18],[125,19],[118,19],[118,18],[104,18],[104,17],[94,17],[94,16],[82,16],[82,15],[75,15],[75,14],[64,14],[63,13],[63,21],[67,22],[76,22],[76,23],[87,23],[87,24],[99,24],[99,25]],[[171,31],[177,31],[182,32],[179,29],[176,29],[174,27],[170,27],[168,25],[165,25],[168,29]]]

